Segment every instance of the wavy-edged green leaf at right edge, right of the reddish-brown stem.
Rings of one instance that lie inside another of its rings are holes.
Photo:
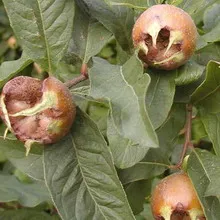
[[[191,100],[199,109],[205,130],[213,143],[215,153],[220,155],[220,64],[210,61],[204,82],[193,93]]]

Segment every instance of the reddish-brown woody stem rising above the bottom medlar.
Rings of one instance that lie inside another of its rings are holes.
[[[192,144],[191,144],[192,104],[186,105],[186,112],[187,112],[187,115],[186,115],[186,124],[185,124],[185,141],[183,144],[183,149],[182,149],[182,153],[181,153],[179,162],[176,165],[171,166],[172,169],[181,169],[186,151],[189,147],[192,146]]]

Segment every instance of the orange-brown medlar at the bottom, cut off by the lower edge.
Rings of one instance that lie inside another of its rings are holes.
[[[203,209],[185,173],[172,174],[153,191],[151,209],[157,220],[204,220]]]

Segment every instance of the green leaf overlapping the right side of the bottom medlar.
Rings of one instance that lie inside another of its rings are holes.
[[[203,205],[207,219],[220,218],[219,199],[219,158],[208,151],[194,150],[188,159],[187,172]],[[215,185],[215,186],[213,186]],[[214,188],[217,190],[212,192]],[[212,197],[210,197],[212,195]],[[209,197],[207,197],[209,196]]]

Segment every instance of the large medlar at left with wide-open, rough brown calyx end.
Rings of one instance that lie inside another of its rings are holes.
[[[54,77],[16,77],[3,87],[0,103],[1,118],[26,144],[57,142],[68,133],[76,114],[68,88]]]

